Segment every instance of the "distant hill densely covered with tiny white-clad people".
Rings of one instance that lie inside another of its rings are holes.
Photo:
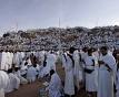
[[[7,32],[0,37],[0,50],[38,51],[59,50],[70,46],[101,46],[119,45],[119,26],[96,26],[93,29],[48,28],[28,31]]]

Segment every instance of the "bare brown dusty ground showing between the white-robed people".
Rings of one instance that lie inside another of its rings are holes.
[[[65,78],[63,69],[61,68],[61,65],[57,65],[57,71],[60,77]],[[39,97],[39,88],[42,87],[41,82],[36,82],[33,84],[27,84],[20,86],[20,88],[16,91],[12,91],[10,94],[6,94],[6,97]],[[87,97],[85,90],[80,90],[77,95],[77,97]]]

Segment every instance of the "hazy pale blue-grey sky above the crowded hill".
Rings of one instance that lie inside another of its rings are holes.
[[[119,24],[119,0],[0,0],[0,32]]]

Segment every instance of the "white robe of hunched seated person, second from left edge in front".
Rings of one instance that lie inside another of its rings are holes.
[[[11,93],[14,89],[19,88],[19,86],[20,86],[20,79],[13,73],[9,73],[8,76],[9,76],[10,82],[9,82],[9,84],[7,86],[6,91],[7,93]]]

